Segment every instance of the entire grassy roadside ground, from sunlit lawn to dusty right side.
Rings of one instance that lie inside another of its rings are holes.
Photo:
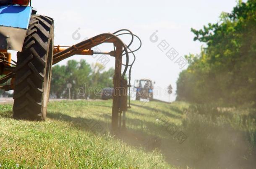
[[[0,105],[3,168],[255,168],[255,109],[132,101],[110,134],[112,101],[50,102],[43,122]]]

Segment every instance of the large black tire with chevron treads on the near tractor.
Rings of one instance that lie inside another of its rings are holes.
[[[13,118],[45,120],[52,74],[53,19],[32,15],[22,52],[17,53]]]

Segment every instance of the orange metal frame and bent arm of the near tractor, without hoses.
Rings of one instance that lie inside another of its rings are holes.
[[[100,45],[102,43],[113,43],[115,46],[115,50],[110,52],[94,52],[91,48]],[[121,116],[123,113],[123,128],[125,128],[125,112],[128,109],[127,106],[127,81],[124,79],[125,71],[127,70],[127,66],[125,66],[125,70],[122,75],[122,56],[123,52],[127,52],[126,45],[114,34],[104,33],[101,35],[97,35],[93,38],[85,40],[81,43],[73,45],[71,47],[63,47],[63,46],[55,46],[53,50],[53,64],[56,64],[60,61],[63,61],[66,58],[69,58],[73,55],[94,55],[94,54],[107,54],[115,57],[115,75],[113,77],[114,83],[114,92],[113,92],[113,103],[112,103],[112,131],[117,131],[121,129]],[[7,50],[0,51],[4,56],[10,54],[7,53]],[[8,58],[10,60],[10,58]],[[1,60],[3,62],[3,71],[1,74],[5,74],[6,76],[0,79],[0,84],[5,83],[9,79],[12,79],[10,85],[0,86],[0,89],[4,89],[6,91],[13,89],[13,82],[15,72],[19,70],[19,67],[12,67],[10,63],[5,64],[5,59]],[[0,64],[1,64],[0,61]],[[128,61],[128,59],[127,59]],[[14,64],[13,64],[14,65]],[[122,89],[122,90],[120,90]]]

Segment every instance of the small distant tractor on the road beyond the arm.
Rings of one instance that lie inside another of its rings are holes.
[[[155,83],[155,82],[154,82]],[[134,82],[134,88],[136,91],[136,100],[149,99],[153,100],[153,82],[150,79],[141,79]]]

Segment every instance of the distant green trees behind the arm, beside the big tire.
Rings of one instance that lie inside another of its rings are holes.
[[[67,84],[71,83],[71,98],[99,98],[101,88],[113,86],[114,69],[105,71],[100,63],[89,65],[85,60],[68,61],[67,65],[52,67],[51,98],[68,98]],[[97,93],[94,93],[97,91]]]

